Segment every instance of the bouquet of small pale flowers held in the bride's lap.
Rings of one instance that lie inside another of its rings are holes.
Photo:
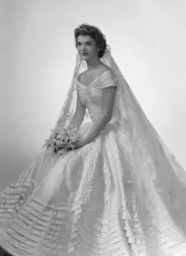
[[[44,146],[52,150],[57,155],[73,150],[78,139],[78,126],[68,126],[67,128],[57,128],[49,139],[45,140]]]

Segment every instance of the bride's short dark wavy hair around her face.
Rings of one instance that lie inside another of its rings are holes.
[[[107,43],[106,43],[105,36],[103,35],[103,33],[99,28],[90,26],[89,24],[85,24],[85,23],[78,26],[74,30],[76,47],[77,47],[79,35],[90,36],[92,39],[94,39],[96,42],[96,47],[100,49],[100,51],[98,51],[98,57],[99,58],[103,57],[105,50],[107,48]]]

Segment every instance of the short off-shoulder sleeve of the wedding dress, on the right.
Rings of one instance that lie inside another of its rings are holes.
[[[107,88],[110,86],[117,87],[118,80],[116,75],[113,73],[113,71],[108,71],[103,77],[102,80],[100,80],[100,84],[98,87],[100,89]]]

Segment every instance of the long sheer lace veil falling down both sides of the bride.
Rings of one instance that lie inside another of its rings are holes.
[[[129,148],[131,148],[133,155],[131,159],[131,155],[128,154],[128,163],[131,163],[127,165],[129,167],[128,176],[130,176],[135,190],[139,192],[137,193],[138,201],[141,203],[142,209],[148,210],[151,197],[149,195],[148,199],[145,198],[143,188],[149,188],[148,186],[153,184],[150,188],[155,188],[154,193],[157,194],[157,201],[150,202],[150,204],[154,204],[154,211],[157,213],[159,207],[161,207],[161,202],[163,202],[172,219],[177,223],[182,233],[186,235],[186,218],[184,217],[186,212],[186,171],[177,162],[177,158],[169,151],[160,135],[149,122],[137,98],[131,91],[131,87],[115,63],[109,46],[101,61],[113,69],[118,80],[113,115],[119,121],[120,132],[128,136],[128,141],[130,141]],[[72,85],[67,92],[67,98],[55,123],[55,128],[67,127],[73,117],[77,101],[76,82],[78,74],[84,69],[86,69],[86,64],[77,54]],[[88,112],[86,112],[85,118],[89,119]],[[140,158],[138,157],[139,154]],[[154,195],[152,198],[154,198]],[[160,215],[165,219],[167,215],[166,213],[162,214],[162,212],[161,208]],[[151,222],[151,218],[152,216],[148,218],[149,222]],[[158,222],[156,226],[159,229],[160,219]],[[146,225],[147,219],[144,219],[143,223]],[[168,226],[171,230],[172,225],[167,224],[166,232],[169,234]],[[170,234],[173,235],[173,232],[170,232]],[[174,238],[177,240],[177,234]]]

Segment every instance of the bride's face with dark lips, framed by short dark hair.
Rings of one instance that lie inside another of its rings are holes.
[[[91,58],[97,57],[97,54],[98,54],[96,42],[90,36],[79,35],[77,39],[77,49],[78,49],[78,54],[85,61],[88,61]]]

